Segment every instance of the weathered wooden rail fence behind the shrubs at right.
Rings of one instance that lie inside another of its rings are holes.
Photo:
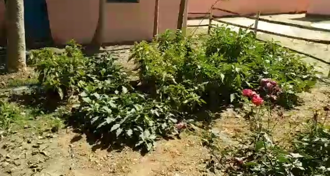
[[[236,24],[236,23],[232,23],[232,22],[221,20],[219,18],[216,18],[213,15],[214,14],[214,11],[223,11],[223,12],[227,12],[227,13],[233,14],[234,16],[245,17],[245,18],[248,18],[248,19],[253,19],[253,20],[255,20],[254,27],[244,26],[244,25],[240,25],[240,24]],[[256,14],[256,16],[241,15],[241,14],[236,13],[236,12],[232,12],[232,11],[229,11],[229,10],[220,9],[220,8],[216,8],[216,7],[212,6],[212,8],[211,8],[210,13],[209,13],[208,16],[209,16],[208,17],[209,18],[209,24],[189,25],[187,27],[202,27],[202,26],[206,27],[207,26],[208,27],[208,34],[210,34],[212,27],[214,27],[214,25],[213,25],[212,22],[213,21],[216,21],[216,22],[223,23],[223,24],[228,24],[228,25],[231,25],[231,26],[236,26],[236,27],[240,27],[240,28],[250,29],[250,30],[253,30],[255,33],[262,32],[262,33],[265,33],[265,34],[271,34],[271,35],[276,35],[276,36],[280,36],[280,37],[286,37],[286,38],[290,38],[290,39],[303,40],[303,41],[307,41],[307,42],[313,42],[313,43],[319,43],[319,44],[325,44],[325,45],[329,45],[330,44],[330,41],[329,40],[308,39],[308,38],[297,37],[297,36],[290,36],[290,35],[286,35],[286,34],[281,34],[281,33],[276,33],[276,32],[271,32],[271,31],[267,31],[267,30],[258,29],[258,22],[259,21],[264,21],[264,22],[268,22],[268,23],[281,24],[281,25],[292,26],[292,27],[297,27],[297,28],[302,28],[302,29],[309,29],[309,30],[314,30],[314,31],[329,32],[329,34],[330,34],[330,30],[329,29],[316,28],[316,27],[312,27],[312,26],[304,26],[304,25],[300,25],[300,24],[287,23],[287,22],[282,22],[282,21],[275,21],[275,20],[260,18],[260,13]],[[266,42],[266,41],[264,41],[262,39],[259,39],[259,38],[257,38],[257,40],[262,41],[262,42]],[[330,62],[325,61],[325,60],[323,60],[321,58],[315,57],[314,55],[311,55],[309,53],[304,53],[304,52],[301,52],[301,51],[297,51],[297,50],[294,50],[292,48],[288,48],[288,47],[285,47],[285,46],[282,46],[282,47],[283,48],[286,48],[286,49],[288,49],[290,51],[293,51],[293,52],[296,52],[296,53],[299,53],[299,54],[306,55],[306,56],[311,57],[311,58],[313,58],[315,60],[318,60],[320,62],[323,62],[325,64],[330,65]],[[329,74],[328,74],[328,78],[330,78],[330,71],[329,71]]]

